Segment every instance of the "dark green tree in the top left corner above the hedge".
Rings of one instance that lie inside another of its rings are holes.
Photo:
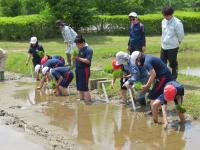
[[[3,16],[18,16],[21,14],[21,0],[1,0],[1,12]]]

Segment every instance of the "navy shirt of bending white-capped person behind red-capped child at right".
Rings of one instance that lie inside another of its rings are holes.
[[[154,69],[156,72],[156,79],[159,79],[163,75],[171,75],[167,65],[160,58],[154,57],[152,55],[144,55],[144,57],[144,67],[148,71]]]

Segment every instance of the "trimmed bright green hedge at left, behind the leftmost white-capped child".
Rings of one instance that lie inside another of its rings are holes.
[[[53,37],[54,23],[52,16],[28,15],[17,17],[0,17],[0,39],[24,40],[31,36],[39,39]]]

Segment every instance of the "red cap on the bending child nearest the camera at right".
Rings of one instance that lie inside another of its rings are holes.
[[[166,101],[173,101],[176,96],[176,88],[169,84],[164,88],[164,98]]]

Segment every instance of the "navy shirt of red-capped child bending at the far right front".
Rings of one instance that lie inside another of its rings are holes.
[[[176,97],[177,96],[183,96],[184,95],[184,87],[180,84],[180,83],[178,83],[177,81],[170,81],[170,82],[168,82],[167,84],[166,84],[166,86],[167,85],[173,85],[175,88],[176,88],[176,96],[175,96],[175,100],[174,100],[174,102],[175,102],[175,104],[177,105],[178,103],[177,103],[177,100],[176,100]],[[164,98],[164,94],[161,94],[159,97],[158,97],[158,99],[160,100],[160,102],[161,102],[161,105],[163,105],[163,104],[167,104],[167,101],[165,100],[165,98]]]

